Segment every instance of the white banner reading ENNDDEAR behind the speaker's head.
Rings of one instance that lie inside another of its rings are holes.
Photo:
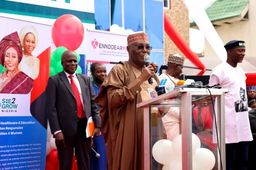
[[[87,29],[86,61],[114,64],[127,61],[127,35]]]

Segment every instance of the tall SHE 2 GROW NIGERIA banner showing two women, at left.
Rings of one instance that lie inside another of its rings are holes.
[[[51,26],[0,16],[0,169],[45,169]]]

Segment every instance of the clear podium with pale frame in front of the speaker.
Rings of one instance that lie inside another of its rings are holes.
[[[208,148],[214,153],[216,162],[213,170],[221,169],[221,162],[225,170],[224,94],[228,92],[229,89],[182,88],[137,104],[138,108],[144,109],[144,170],[162,169],[163,165],[152,156],[152,147],[158,140],[172,140],[175,134],[182,134],[182,170],[192,170],[192,132],[197,136],[205,132],[201,135],[203,137],[199,137],[201,148]],[[214,119],[212,103],[218,121]],[[171,108],[178,109],[178,113],[169,112]],[[213,128],[215,123],[217,128]],[[212,134],[216,129],[220,153],[218,145],[213,142]]]

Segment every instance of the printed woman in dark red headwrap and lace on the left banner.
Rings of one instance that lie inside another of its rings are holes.
[[[4,37],[0,42],[0,64],[7,68],[0,74],[0,93],[28,94],[33,88],[33,79],[18,69],[22,59],[22,47],[17,32]]]

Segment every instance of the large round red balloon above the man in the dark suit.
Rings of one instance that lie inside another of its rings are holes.
[[[52,40],[56,47],[64,46],[75,51],[83,42],[84,26],[79,18],[71,14],[60,16],[52,26]]]

